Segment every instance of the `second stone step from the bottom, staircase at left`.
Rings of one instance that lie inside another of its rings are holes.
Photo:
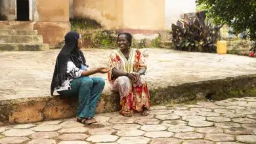
[[[0,43],[42,44],[42,35],[0,35]]]

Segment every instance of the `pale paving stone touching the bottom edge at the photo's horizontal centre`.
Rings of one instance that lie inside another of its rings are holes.
[[[150,141],[147,137],[121,137],[118,139],[119,144],[146,144]]]

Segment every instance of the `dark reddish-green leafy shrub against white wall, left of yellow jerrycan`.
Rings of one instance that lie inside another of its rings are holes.
[[[205,19],[205,13],[206,11],[197,12],[190,22],[178,20],[177,25],[172,24],[175,50],[216,52],[219,29],[222,26],[213,26]]]

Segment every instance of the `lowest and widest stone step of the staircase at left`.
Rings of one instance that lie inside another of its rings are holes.
[[[1,51],[42,51],[49,50],[48,44],[0,43]]]

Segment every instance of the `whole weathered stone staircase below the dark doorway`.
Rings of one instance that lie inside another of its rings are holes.
[[[43,36],[37,30],[0,29],[0,51],[49,50],[43,43]]]

